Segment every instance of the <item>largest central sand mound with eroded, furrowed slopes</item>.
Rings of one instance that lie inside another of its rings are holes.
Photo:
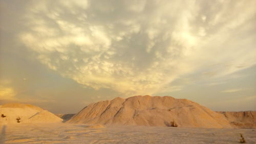
[[[231,128],[223,114],[196,102],[170,96],[117,97],[82,109],[68,122],[164,127]]]

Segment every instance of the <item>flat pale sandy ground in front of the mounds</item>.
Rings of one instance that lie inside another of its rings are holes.
[[[256,143],[256,129],[199,129],[72,124],[12,124],[0,126],[0,143]]]

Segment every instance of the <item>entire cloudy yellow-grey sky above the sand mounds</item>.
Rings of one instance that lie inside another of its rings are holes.
[[[173,96],[256,110],[256,1],[2,0],[0,105]]]

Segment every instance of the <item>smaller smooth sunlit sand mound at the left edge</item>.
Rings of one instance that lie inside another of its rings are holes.
[[[17,121],[19,123],[61,122],[62,119],[33,105],[11,103],[0,106],[0,124],[17,124]]]

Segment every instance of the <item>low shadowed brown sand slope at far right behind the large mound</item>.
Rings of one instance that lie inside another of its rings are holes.
[[[256,128],[256,111],[218,113],[223,114],[234,128]]]

